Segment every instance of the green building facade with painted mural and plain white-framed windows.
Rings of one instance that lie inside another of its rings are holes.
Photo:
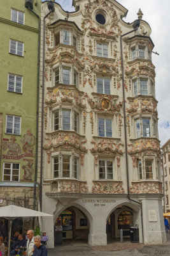
[[[1,0],[0,206],[35,208],[41,0]]]

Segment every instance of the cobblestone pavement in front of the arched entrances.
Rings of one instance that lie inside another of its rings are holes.
[[[170,234],[167,234],[167,243],[145,246],[139,243],[115,242],[105,246],[89,246],[83,241],[72,241],[64,243],[64,246],[57,246],[48,249],[48,256],[155,256],[170,255]]]

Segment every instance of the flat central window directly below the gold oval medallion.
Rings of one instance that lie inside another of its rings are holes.
[[[98,119],[98,131],[101,137],[112,137],[112,120],[107,118]]]

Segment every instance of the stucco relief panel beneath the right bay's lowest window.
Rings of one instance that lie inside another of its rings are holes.
[[[162,182],[132,182],[129,189],[132,194],[162,193]]]

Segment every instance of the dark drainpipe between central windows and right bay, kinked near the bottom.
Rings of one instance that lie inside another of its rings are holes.
[[[142,227],[142,237],[143,237],[143,209],[142,204],[130,197],[130,191],[129,191],[129,168],[128,168],[128,154],[127,154],[127,129],[126,129],[126,115],[125,115],[125,85],[124,85],[124,58],[123,58],[123,50],[122,50],[122,37],[125,35],[128,35],[134,31],[136,31],[140,26],[140,20],[135,20],[133,24],[133,30],[123,34],[120,36],[120,51],[121,51],[121,67],[122,67],[122,90],[123,90],[123,106],[124,106],[124,132],[125,132],[125,163],[126,163],[126,177],[127,177],[127,198],[136,203],[139,204],[141,207],[141,227]],[[143,243],[144,243],[144,237],[143,237]]]

